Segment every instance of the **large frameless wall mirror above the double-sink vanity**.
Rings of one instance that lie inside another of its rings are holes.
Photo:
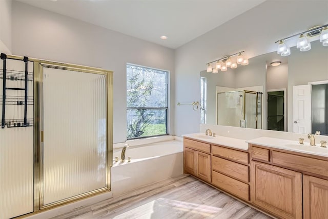
[[[300,85],[312,84],[309,85],[312,89],[314,84],[328,84],[328,47],[322,46],[319,41],[312,42],[311,46],[312,49],[306,52],[292,47],[291,55],[286,57],[278,55],[276,51],[259,55],[250,58],[249,65],[238,65],[236,69],[228,68],[226,72],[218,70],[218,73],[214,74],[206,70],[201,71],[200,123],[220,125],[219,121],[223,118],[220,118],[218,113],[218,93],[248,90],[262,92],[262,108],[259,112],[262,124],[258,128],[300,132],[298,127],[295,127],[300,121],[295,118],[294,110],[297,110],[297,105],[293,102],[297,100],[293,97],[293,89]],[[281,64],[271,66],[272,62]],[[214,66],[214,63],[212,65]],[[321,134],[327,133],[328,101],[325,99],[328,98],[328,91],[323,91],[324,87],[327,86],[315,88],[316,94],[313,95],[312,101],[310,97],[310,101],[304,102],[305,106],[310,106],[311,115],[308,121],[305,121],[311,124],[310,132],[321,127]],[[317,114],[320,114],[319,118],[312,116]],[[231,126],[242,125],[241,121]]]

